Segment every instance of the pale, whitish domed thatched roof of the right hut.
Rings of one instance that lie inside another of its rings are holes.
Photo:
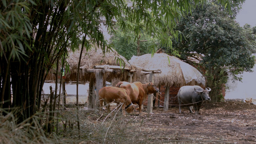
[[[170,62],[169,62],[170,61]],[[133,56],[129,62],[145,69],[161,69],[162,73],[154,74],[155,84],[165,85],[205,85],[205,78],[193,66],[165,53]]]

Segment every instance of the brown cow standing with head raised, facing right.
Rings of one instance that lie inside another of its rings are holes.
[[[146,84],[141,84],[140,82],[128,83],[119,82],[116,87],[121,87],[126,89],[130,93],[130,98],[134,104],[139,105],[139,112],[141,114],[141,105],[144,99],[146,99],[148,94],[153,94],[158,92],[158,88],[151,82]]]

